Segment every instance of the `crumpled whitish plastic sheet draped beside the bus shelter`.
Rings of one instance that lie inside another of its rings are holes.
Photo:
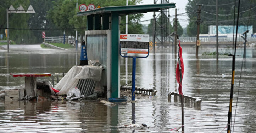
[[[72,88],[75,88],[79,79],[101,80],[102,66],[73,66],[67,74],[55,86],[59,90],[58,95],[67,94]]]

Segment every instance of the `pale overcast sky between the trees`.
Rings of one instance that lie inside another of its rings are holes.
[[[176,8],[177,8],[177,14],[180,14],[180,13],[184,13],[186,12],[185,10],[185,6],[187,5],[188,3],[188,0],[170,0],[170,3],[176,3]],[[142,0],[141,1],[141,5],[143,4],[153,4],[154,3],[154,0]],[[157,1],[157,4],[160,4],[161,3],[161,0],[158,0]],[[175,15],[175,8],[172,8],[170,9],[170,15]],[[158,15],[160,12],[156,12],[156,15]],[[149,20],[149,19],[152,19],[153,18],[153,12],[148,12],[148,13],[143,13],[144,16],[140,19],[141,21],[143,20]],[[180,25],[185,28],[187,25],[188,25],[188,16],[185,15],[185,16],[177,16],[178,19],[183,19],[183,20],[179,20],[179,23]],[[173,18],[170,18],[170,21],[172,21]],[[150,23],[150,21],[145,21],[145,22],[141,22],[141,24],[146,24],[148,25]],[[171,23],[172,24],[172,23]]]

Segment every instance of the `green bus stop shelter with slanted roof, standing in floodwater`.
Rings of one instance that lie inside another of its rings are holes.
[[[175,3],[149,4],[149,5],[130,5],[130,6],[111,6],[102,7],[95,10],[77,12],[77,16],[87,16],[87,31],[97,31],[95,34],[108,34],[110,44],[107,50],[107,92],[109,97],[120,97],[120,62],[119,62],[119,16],[157,12],[163,9],[175,8]],[[86,33],[90,33],[85,31]],[[106,31],[106,32],[105,32]],[[110,32],[109,32],[110,31]],[[85,39],[87,37],[85,36]],[[104,50],[104,49],[102,49]],[[94,53],[96,54],[96,53]],[[102,55],[101,55],[102,56]],[[101,58],[101,57],[99,57]],[[88,60],[90,59],[88,55]],[[102,62],[100,62],[102,64]]]

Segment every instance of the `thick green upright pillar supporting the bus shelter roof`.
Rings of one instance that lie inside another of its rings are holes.
[[[118,97],[119,14],[111,13],[111,97]]]

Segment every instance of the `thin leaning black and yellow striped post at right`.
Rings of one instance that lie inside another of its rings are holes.
[[[231,117],[232,117],[232,101],[233,101],[233,90],[234,90],[234,79],[235,79],[235,53],[236,53],[236,40],[237,40],[238,20],[239,20],[239,8],[240,8],[240,0],[238,1],[238,15],[236,20],[235,50],[232,58],[232,80],[231,80],[230,101],[229,101],[229,110],[228,110],[227,133],[230,133]]]

